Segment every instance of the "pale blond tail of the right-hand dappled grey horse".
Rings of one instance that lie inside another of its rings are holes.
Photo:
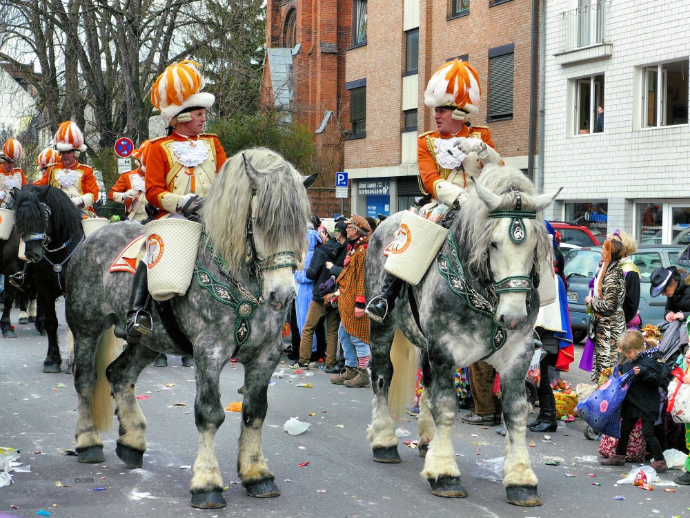
[[[405,338],[400,329],[396,329],[391,344],[391,362],[393,362],[393,379],[388,388],[388,409],[397,419],[402,419],[406,405],[412,403],[415,396],[415,379],[419,353],[417,347]]]

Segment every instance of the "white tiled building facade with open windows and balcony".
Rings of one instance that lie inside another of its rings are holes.
[[[549,219],[689,242],[690,1],[544,3]]]

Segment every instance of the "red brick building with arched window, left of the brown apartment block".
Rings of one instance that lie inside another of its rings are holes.
[[[304,124],[317,146],[319,180],[309,189],[319,216],[339,213],[335,173],[343,171],[349,130],[345,50],[351,46],[352,0],[268,0],[262,108]],[[349,201],[344,200],[346,212]]]

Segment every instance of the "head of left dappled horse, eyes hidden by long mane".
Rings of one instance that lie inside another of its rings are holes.
[[[295,296],[293,271],[306,251],[306,188],[315,179],[278,153],[253,148],[228,159],[204,204],[206,231],[230,270],[254,270],[275,311]]]

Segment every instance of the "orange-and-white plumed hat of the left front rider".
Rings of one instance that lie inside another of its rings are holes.
[[[161,111],[161,116],[170,124],[170,119],[187,108],[209,108],[213,106],[213,94],[201,92],[206,86],[199,72],[199,64],[181,61],[168,66],[156,79],[151,90],[151,104]]]

